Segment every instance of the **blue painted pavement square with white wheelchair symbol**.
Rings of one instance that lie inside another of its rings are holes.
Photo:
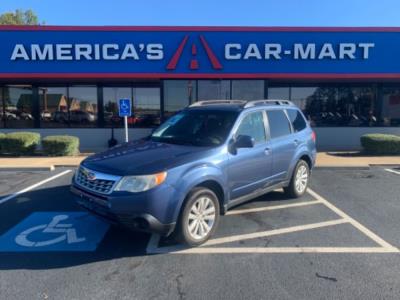
[[[0,252],[95,251],[108,228],[86,212],[35,212],[0,237]]]

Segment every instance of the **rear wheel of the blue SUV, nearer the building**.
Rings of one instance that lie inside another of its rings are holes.
[[[294,168],[292,178],[284,191],[291,198],[299,198],[303,196],[310,181],[310,167],[304,160],[299,160]]]

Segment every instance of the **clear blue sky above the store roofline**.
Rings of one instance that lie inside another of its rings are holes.
[[[0,0],[46,25],[400,26],[399,0]]]

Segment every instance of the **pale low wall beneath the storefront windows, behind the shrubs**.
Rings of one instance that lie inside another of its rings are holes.
[[[366,133],[390,133],[400,135],[400,127],[331,127],[315,128],[317,147],[319,151],[359,150],[360,137]],[[18,129],[0,129],[0,132],[13,132]],[[80,138],[82,152],[97,152],[107,148],[107,141],[111,137],[110,128],[59,128],[59,129],[20,129],[19,131],[39,132],[42,137],[48,135],[68,134]],[[139,139],[150,134],[151,129],[129,129],[129,139]],[[114,130],[115,138],[119,142],[125,140],[124,129]]]

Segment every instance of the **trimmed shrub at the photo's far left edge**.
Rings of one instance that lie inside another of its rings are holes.
[[[27,155],[35,153],[40,142],[40,134],[36,132],[11,132],[0,139],[2,154]]]

